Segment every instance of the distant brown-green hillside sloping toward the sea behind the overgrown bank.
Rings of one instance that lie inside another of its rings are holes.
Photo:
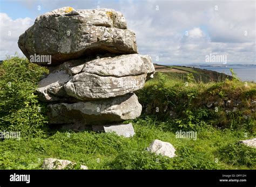
[[[164,66],[160,64],[154,64],[156,72],[164,73],[170,77],[184,78],[186,74],[192,73],[196,81],[222,81],[226,78],[231,79],[232,76],[217,71],[211,71],[207,69],[191,68],[186,66]]]

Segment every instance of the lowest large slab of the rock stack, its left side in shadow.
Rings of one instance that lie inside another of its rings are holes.
[[[142,105],[134,93],[88,102],[50,104],[48,108],[51,124],[76,124],[79,129],[86,125],[135,119],[142,112]]]

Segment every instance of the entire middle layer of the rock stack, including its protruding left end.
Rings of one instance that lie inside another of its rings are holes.
[[[139,54],[69,61],[39,82],[39,98],[53,102],[69,97],[92,100],[122,96],[142,89],[153,72],[150,57]]]

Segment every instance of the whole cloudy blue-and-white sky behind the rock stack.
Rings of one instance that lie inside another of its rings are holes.
[[[110,8],[123,13],[140,54],[159,64],[197,64],[225,55],[227,63],[256,64],[256,1],[0,0],[0,60],[17,52],[18,37],[43,13]]]

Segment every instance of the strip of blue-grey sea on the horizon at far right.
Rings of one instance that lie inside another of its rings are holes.
[[[219,73],[224,73],[227,75],[232,75],[230,69],[232,68],[234,73],[241,81],[254,81],[256,82],[256,66],[224,66],[224,67],[210,67],[210,66],[200,66],[200,69],[207,69],[212,71],[217,71]]]

